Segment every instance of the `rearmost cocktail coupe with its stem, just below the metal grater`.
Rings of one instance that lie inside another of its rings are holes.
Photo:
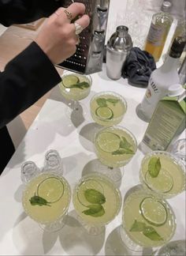
[[[76,119],[79,119],[82,114],[87,114],[86,107],[80,104],[79,100],[83,100],[89,95],[91,92],[91,84],[92,80],[90,75],[72,73],[67,70],[62,74],[59,88],[61,95],[64,96],[65,99],[70,100],[66,109],[69,118],[73,113]]]

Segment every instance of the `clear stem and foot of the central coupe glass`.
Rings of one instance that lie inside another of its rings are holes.
[[[122,167],[121,168],[109,167],[109,166],[106,166],[105,164],[102,164],[100,161],[96,163],[95,171],[103,175],[106,175],[109,179],[113,181],[113,183],[118,183],[124,175],[124,171]]]

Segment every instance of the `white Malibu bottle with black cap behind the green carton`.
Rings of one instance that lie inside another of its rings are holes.
[[[144,121],[150,121],[158,101],[164,96],[167,96],[169,86],[180,84],[177,67],[185,43],[183,37],[176,37],[166,58],[166,62],[151,73],[147,91],[138,109],[138,114]]]

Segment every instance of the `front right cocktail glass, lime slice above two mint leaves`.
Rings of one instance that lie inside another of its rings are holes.
[[[157,194],[136,190],[125,198],[121,239],[130,250],[161,247],[172,239],[176,229],[173,210]]]

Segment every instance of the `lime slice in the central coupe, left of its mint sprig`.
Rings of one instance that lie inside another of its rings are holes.
[[[97,143],[104,152],[114,152],[120,148],[121,138],[117,134],[104,132],[98,135]]]

